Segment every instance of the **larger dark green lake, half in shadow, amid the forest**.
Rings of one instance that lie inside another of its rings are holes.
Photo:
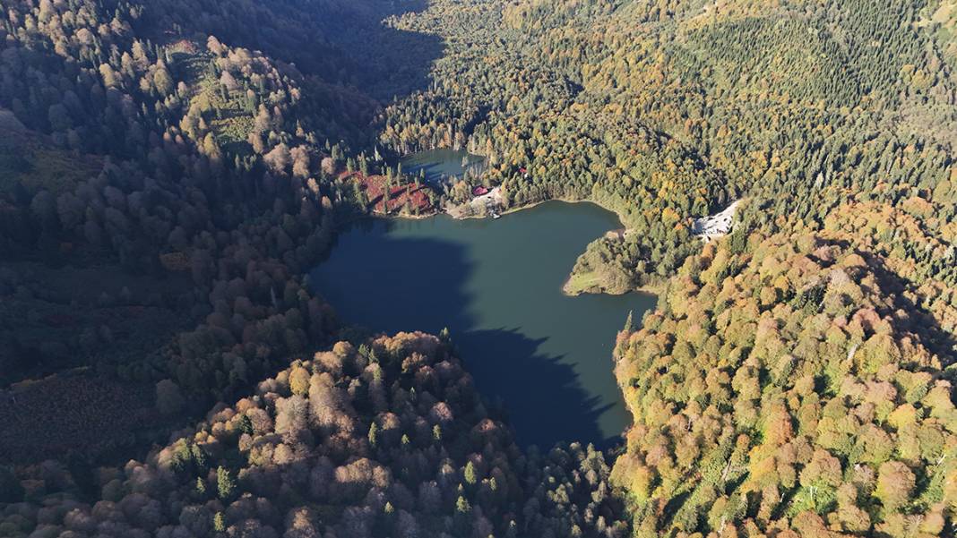
[[[346,322],[390,334],[448,327],[523,445],[605,447],[629,422],[612,374],[615,334],[656,298],[561,288],[585,247],[618,227],[610,211],[564,202],[499,220],[365,220],[339,234],[310,281]]]

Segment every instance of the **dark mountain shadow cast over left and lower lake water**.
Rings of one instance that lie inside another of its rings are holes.
[[[460,358],[486,399],[501,398],[523,446],[557,441],[605,447],[599,417],[612,404],[590,395],[562,356],[540,351],[545,339],[521,328],[479,329],[466,283],[475,270],[464,247],[437,239],[396,238],[389,221],[343,230],[334,254],[310,272],[311,286],[346,322],[376,332],[448,328]]]

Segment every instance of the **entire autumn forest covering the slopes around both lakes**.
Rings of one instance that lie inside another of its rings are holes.
[[[0,8],[0,537],[957,533],[954,0]],[[658,295],[619,446],[310,288],[471,183],[627,227],[568,268]]]

